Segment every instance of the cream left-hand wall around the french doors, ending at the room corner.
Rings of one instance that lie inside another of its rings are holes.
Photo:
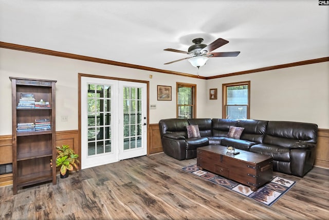
[[[150,109],[151,124],[176,117],[176,82],[197,84],[197,117],[202,117],[206,106],[206,80],[0,48],[0,135],[11,134],[9,77],[57,80],[56,130],[77,130],[79,73],[149,81],[150,104],[157,106]],[[157,101],[157,85],[172,86],[172,101]],[[62,122],[61,116],[68,116],[68,121]]]

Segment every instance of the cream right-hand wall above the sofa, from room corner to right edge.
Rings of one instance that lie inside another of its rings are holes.
[[[251,119],[310,122],[329,129],[329,62],[207,80],[207,90],[218,89],[218,99],[208,100],[208,116],[222,118],[223,83],[249,80]]]

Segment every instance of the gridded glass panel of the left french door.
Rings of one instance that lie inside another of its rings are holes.
[[[88,84],[88,156],[111,152],[111,85]],[[105,98],[104,98],[105,97]]]

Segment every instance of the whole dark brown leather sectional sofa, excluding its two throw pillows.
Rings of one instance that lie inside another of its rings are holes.
[[[200,137],[188,138],[187,125],[198,125]],[[243,127],[240,139],[228,138],[230,126]],[[230,119],[162,119],[163,151],[178,160],[196,157],[196,149],[209,144],[273,157],[273,170],[304,176],[312,169],[318,125],[313,123]]]

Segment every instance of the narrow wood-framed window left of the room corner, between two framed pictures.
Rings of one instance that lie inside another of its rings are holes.
[[[176,83],[177,87],[177,118],[195,118],[196,116],[196,85]]]

